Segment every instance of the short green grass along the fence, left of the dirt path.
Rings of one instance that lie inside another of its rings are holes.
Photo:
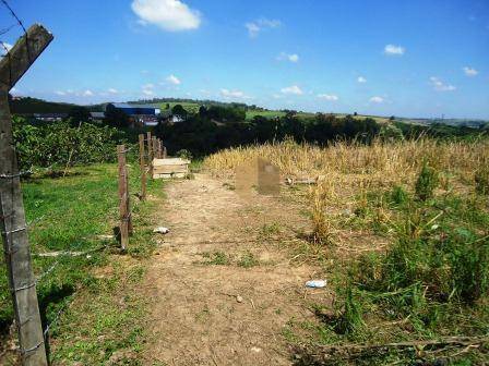
[[[131,194],[140,192],[138,170],[138,166],[132,163],[129,173]],[[150,181],[147,192],[162,197],[162,181]],[[135,337],[134,332],[140,333],[135,316],[141,312],[142,303],[139,303],[135,295],[130,295],[127,298],[128,307],[121,308],[114,296],[121,296],[121,285],[131,285],[141,279],[143,271],[138,258],[148,255],[155,245],[151,227],[151,210],[155,203],[141,203],[135,196],[131,196],[134,234],[130,237],[128,254],[134,265],[126,268],[118,265],[122,257],[116,240],[98,237],[112,234],[114,228],[118,225],[116,164],[77,167],[65,178],[29,179],[22,182],[22,190],[27,222],[34,222],[29,227],[28,236],[36,276],[58,263],[37,285],[44,324],[52,321],[60,309],[69,308],[63,310],[61,322],[51,329],[51,341],[56,345],[52,357],[57,361],[80,359],[86,365],[103,365],[115,350],[129,344]],[[85,252],[104,246],[100,251],[79,257],[35,256],[44,252]],[[96,276],[97,268],[106,267],[114,271],[107,276]],[[69,305],[71,303],[73,305]],[[79,314],[80,319],[75,319],[75,314]],[[0,330],[3,333],[12,318],[5,267],[2,265]],[[104,322],[104,330],[97,330],[98,322]],[[105,342],[97,338],[102,333],[114,333],[117,337]],[[83,337],[76,340],[75,334]],[[105,354],[102,358],[98,356],[100,350]],[[71,353],[76,356],[71,357]]]

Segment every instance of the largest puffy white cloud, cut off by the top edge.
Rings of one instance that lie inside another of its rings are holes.
[[[138,23],[154,24],[170,32],[196,29],[201,13],[180,0],[133,0],[131,8],[140,17]]]

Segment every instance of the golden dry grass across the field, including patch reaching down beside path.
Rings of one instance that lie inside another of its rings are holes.
[[[236,167],[257,158],[270,160],[279,168],[283,178],[321,178],[309,192],[312,237],[321,244],[336,243],[343,248],[363,252],[350,225],[348,230],[342,228],[353,212],[361,215],[367,210],[368,192],[396,185],[412,191],[424,161],[443,172],[440,190],[473,192],[476,173],[480,167],[489,166],[489,141],[426,138],[397,143],[377,141],[372,145],[338,142],[327,148],[288,141],[223,150],[207,157],[203,167],[216,176],[231,178]],[[363,219],[362,227],[355,230],[370,248],[377,246],[373,242],[378,239],[369,239],[367,232],[372,234],[371,228],[390,221],[392,215],[382,202],[374,210]],[[383,246],[384,242],[379,245]]]

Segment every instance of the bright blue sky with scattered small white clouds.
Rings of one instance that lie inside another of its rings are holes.
[[[55,35],[17,95],[489,118],[488,0],[10,3],[26,25],[40,22]],[[3,8],[0,22],[13,23]]]

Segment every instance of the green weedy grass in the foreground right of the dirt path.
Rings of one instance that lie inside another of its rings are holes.
[[[320,331],[315,329],[307,341],[312,347],[318,343],[487,337],[487,195],[475,186],[467,187],[468,193],[455,192],[450,184],[446,191],[437,188],[433,174],[424,169],[413,187],[375,190],[358,197],[361,209],[355,211],[355,219],[343,222],[343,229],[369,230],[389,239],[391,245],[385,252],[347,263],[342,259],[333,267],[330,283],[336,288],[335,306],[327,316],[319,315]],[[315,312],[329,306],[311,307]],[[479,365],[489,359],[488,350],[487,342],[465,351],[428,347],[422,353],[401,354],[384,350],[361,354],[355,362],[410,365],[446,357],[453,365]]]

